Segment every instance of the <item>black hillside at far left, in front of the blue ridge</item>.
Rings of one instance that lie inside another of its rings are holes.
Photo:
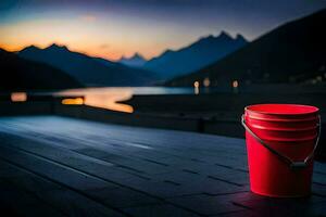
[[[57,90],[83,87],[72,76],[48,64],[28,61],[0,49],[0,90]]]

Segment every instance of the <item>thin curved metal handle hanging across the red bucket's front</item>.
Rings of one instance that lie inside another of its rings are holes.
[[[318,141],[319,141],[319,137],[321,137],[321,131],[322,131],[322,123],[321,123],[321,115],[318,115],[318,135],[315,141],[315,145],[314,149],[312,150],[312,152],[302,161],[302,162],[294,162],[292,161],[290,157],[281,154],[280,152],[276,151],[275,149],[273,149],[271,145],[268,145],[266,142],[264,142],[259,136],[256,136],[256,133],[254,133],[246,124],[244,120],[244,115],[241,116],[241,124],[244,127],[244,129],[260,143],[262,144],[264,148],[266,148],[268,151],[271,151],[273,154],[275,154],[276,156],[278,156],[279,158],[281,158],[284,162],[286,162],[287,164],[289,164],[291,169],[298,169],[298,168],[305,168],[308,166],[308,163],[311,161],[311,158],[314,156],[314,153],[317,149],[318,145]]]

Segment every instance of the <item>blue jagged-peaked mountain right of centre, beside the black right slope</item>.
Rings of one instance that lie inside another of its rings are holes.
[[[238,35],[231,38],[222,31],[220,36],[208,36],[192,44],[176,50],[166,50],[164,53],[148,61],[143,68],[156,72],[164,78],[172,78],[198,71],[225,55],[247,44],[247,40]]]

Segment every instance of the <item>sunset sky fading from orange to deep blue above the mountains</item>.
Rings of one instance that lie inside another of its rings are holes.
[[[254,40],[326,0],[0,0],[0,47],[65,44],[93,56],[146,59],[222,30]]]

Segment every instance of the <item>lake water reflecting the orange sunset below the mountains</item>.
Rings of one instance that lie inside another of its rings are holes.
[[[204,94],[214,92],[234,92],[238,93],[238,88],[171,88],[171,87],[101,87],[70,89],[58,92],[25,92],[12,93],[12,101],[28,101],[28,95],[54,95],[63,97],[62,104],[86,104],[95,107],[102,107],[112,111],[133,113],[134,107],[124,104],[123,101],[129,100],[133,95],[143,94]],[[298,85],[256,85],[241,87],[241,92],[260,92],[260,93],[308,93],[317,92],[326,93],[326,86],[298,86]],[[80,98],[83,97],[83,98]]]

